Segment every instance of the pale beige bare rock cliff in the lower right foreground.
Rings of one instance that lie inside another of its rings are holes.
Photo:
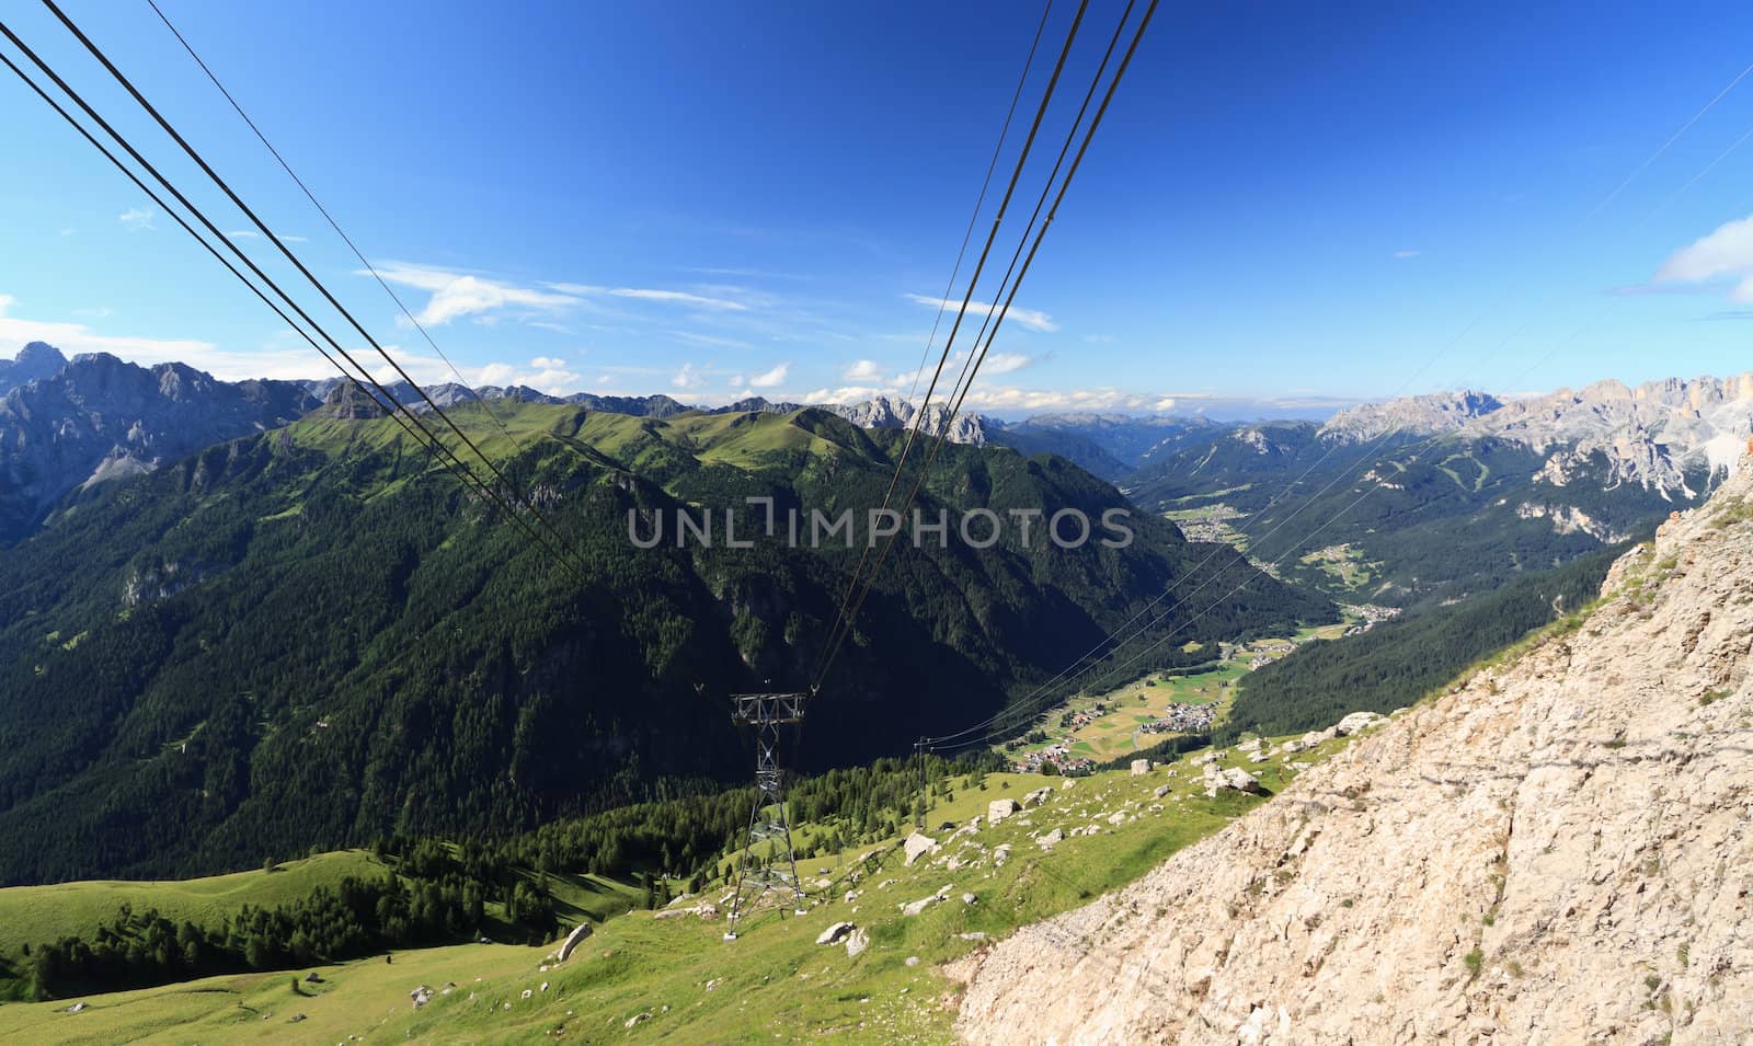
[[[987,953],[973,1042],[1746,1042],[1753,464],[1604,603]]]

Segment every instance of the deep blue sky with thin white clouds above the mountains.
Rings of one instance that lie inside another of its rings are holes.
[[[470,380],[712,403],[910,387],[1041,11],[161,5]],[[144,0],[67,7],[417,377],[449,377]],[[1090,4],[1038,152],[1120,7]],[[198,184],[40,7],[5,18]],[[1164,5],[969,403],[1744,371],[1749,63],[1744,4]],[[11,79],[0,135],[0,356],[44,338],[324,377]]]

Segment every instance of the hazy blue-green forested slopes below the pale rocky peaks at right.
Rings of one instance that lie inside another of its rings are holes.
[[[1187,443],[1122,485],[1139,506],[1210,520],[1280,576],[1413,606],[1569,562],[1692,503],[1615,468],[1592,450],[1553,482],[1546,454],[1502,436],[1350,440],[1294,422]],[[1686,475],[1699,492],[1723,477],[1702,457]]]

